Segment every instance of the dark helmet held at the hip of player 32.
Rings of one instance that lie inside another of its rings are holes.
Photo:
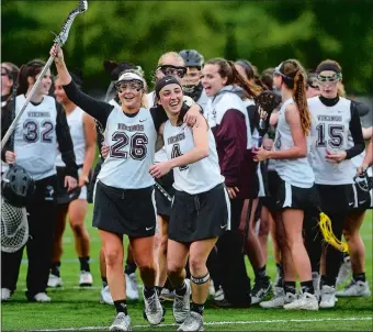
[[[20,165],[10,166],[4,173],[1,193],[5,202],[19,208],[25,207],[34,191],[34,179]]]

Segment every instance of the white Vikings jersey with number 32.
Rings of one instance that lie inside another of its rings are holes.
[[[20,112],[25,100],[24,95],[16,97],[15,114]],[[37,106],[30,102],[16,123],[14,132],[15,161],[35,180],[56,174],[56,100],[53,97],[44,96],[43,101]]]

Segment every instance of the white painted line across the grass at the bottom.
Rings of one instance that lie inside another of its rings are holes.
[[[327,321],[373,321],[373,317],[350,317],[350,318],[315,318],[315,319],[287,319],[287,320],[260,320],[260,321],[222,321],[222,322],[205,322],[205,325],[229,325],[229,324],[285,324],[285,323],[305,323],[305,322],[327,322]],[[162,327],[177,327],[177,324],[159,324]],[[135,329],[149,328],[148,324],[133,325]],[[43,330],[25,330],[35,332],[60,332],[60,331],[90,331],[90,330],[108,330],[108,327],[82,327],[82,328],[60,328],[60,329],[43,329]]]

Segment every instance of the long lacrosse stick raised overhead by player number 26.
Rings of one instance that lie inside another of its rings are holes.
[[[69,31],[70,31],[70,27],[71,27],[71,24],[74,22],[74,19],[76,18],[76,15],[84,12],[88,8],[88,3],[87,3],[87,0],[80,0],[79,1],[79,5],[72,10],[69,15],[67,16],[64,25],[63,25],[63,30],[60,32],[59,35],[56,35],[55,40],[54,40],[54,43],[55,45],[58,44],[60,47],[63,47],[67,41],[67,37],[69,35]],[[15,125],[16,125],[16,122],[20,120],[20,118],[22,117],[24,110],[26,109],[31,98],[34,96],[34,92],[37,88],[37,86],[39,85],[39,82],[42,81],[45,73],[49,69],[52,63],[54,60],[54,57],[53,56],[49,56],[47,63],[45,64],[43,70],[41,71],[36,82],[34,84],[32,90],[30,91],[21,111],[15,115],[12,124],[9,126],[5,135],[3,136],[3,139],[1,140],[1,150],[3,150],[4,145],[7,144],[9,137],[11,136],[11,134],[13,133],[13,131],[15,130]]]

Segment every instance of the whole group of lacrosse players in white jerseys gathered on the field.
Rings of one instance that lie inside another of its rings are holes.
[[[287,310],[370,296],[359,231],[373,198],[355,176],[365,177],[372,164],[372,142],[364,151],[372,128],[361,126],[366,106],[344,97],[337,62],[324,60],[307,74],[289,59],[259,77],[247,60],[205,63],[194,49],[169,52],[159,58],[149,93],[140,67],[105,62],[112,82],[101,101],[81,91],[81,78],[68,71],[58,46],[50,55],[57,76],[47,70],[1,152],[5,177],[16,163],[35,181],[26,204],[29,300],[50,301],[47,286],[63,285],[67,217],[79,285],[93,284],[88,202],[102,242],[101,300],[116,309],[111,331],[131,330],[126,299],[139,298],[137,268],[144,317],[159,324],[160,300],[172,297],[178,331],[203,331],[210,294],[221,308]],[[2,133],[44,65],[32,60],[19,70],[1,64]],[[258,102],[265,98],[275,99],[270,111]],[[101,155],[92,175],[97,142]],[[320,211],[335,236],[347,240],[349,256],[323,245]],[[273,283],[265,266],[269,233]],[[123,235],[129,239],[124,270]],[[15,290],[22,253],[1,253],[2,300]],[[337,291],[351,265],[351,284]],[[273,298],[264,300],[271,290]]]

